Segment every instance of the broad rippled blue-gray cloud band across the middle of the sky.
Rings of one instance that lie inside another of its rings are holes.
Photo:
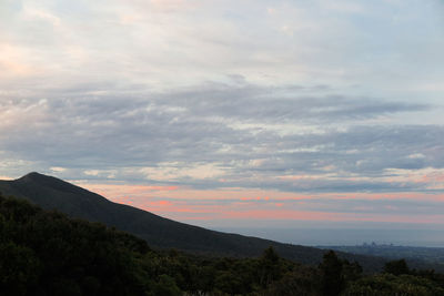
[[[291,192],[426,190],[387,181],[387,170],[444,167],[443,126],[386,123],[395,114],[421,114],[431,108],[425,104],[244,82],[169,93],[102,88],[107,93],[80,85],[48,91],[44,100],[8,100],[0,151],[42,170],[68,167],[77,178],[98,170],[103,173],[88,177]],[[215,173],[188,173],[202,165]],[[155,170],[176,176],[159,178]]]

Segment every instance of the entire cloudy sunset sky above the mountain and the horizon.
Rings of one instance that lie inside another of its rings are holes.
[[[205,226],[443,226],[443,52],[442,0],[2,0],[0,176]]]

